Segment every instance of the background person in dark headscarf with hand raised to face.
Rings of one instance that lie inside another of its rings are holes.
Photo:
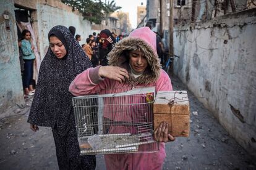
[[[100,32],[100,65],[108,65],[107,55],[112,50],[113,44],[116,44],[116,39],[108,29]]]

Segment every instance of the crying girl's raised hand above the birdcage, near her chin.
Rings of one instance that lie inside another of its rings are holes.
[[[99,76],[103,78],[114,79],[123,83],[125,79],[129,78],[128,72],[126,69],[121,67],[114,67],[114,66],[103,66],[99,68]]]

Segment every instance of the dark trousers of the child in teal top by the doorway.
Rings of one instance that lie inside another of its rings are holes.
[[[29,85],[33,84],[33,59],[24,60],[24,78],[23,78],[23,87],[28,88]]]

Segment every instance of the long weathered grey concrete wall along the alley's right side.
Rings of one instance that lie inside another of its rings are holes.
[[[254,156],[255,30],[256,9],[174,30],[174,74]]]

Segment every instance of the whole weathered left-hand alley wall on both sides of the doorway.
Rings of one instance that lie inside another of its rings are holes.
[[[0,1],[0,117],[7,116],[4,113],[10,107],[24,104],[14,5],[31,10],[32,27],[35,31],[36,45],[41,60],[43,60],[48,50],[48,33],[53,26],[75,26],[76,34],[82,36],[80,44],[85,44],[88,35],[92,34],[90,22],[83,20],[82,15],[77,10],[72,11],[72,7],[63,4],[61,1]],[[10,30],[6,29],[4,13],[9,16],[7,22]]]

